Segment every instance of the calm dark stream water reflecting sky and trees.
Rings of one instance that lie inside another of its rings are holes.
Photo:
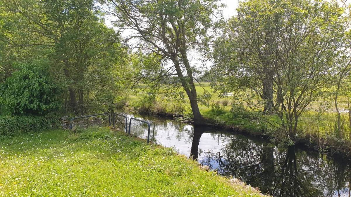
[[[133,116],[151,122],[151,140],[236,177],[272,196],[350,196],[351,162],[290,147],[278,149],[252,138],[166,118]],[[123,122],[123,121],[121,121]],[[124,125],[124,124],[123,124]],[[147,138],[147,126],[132,121],[131,134]]]

